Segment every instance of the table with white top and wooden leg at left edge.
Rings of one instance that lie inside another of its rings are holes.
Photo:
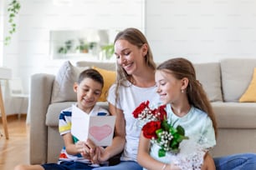
[[[0,67],[0,80],[8,80],[12,78],[12,70],[6,67]],[[3,92],[2,92],[2,86],[0,84],[0,111],[1,111],[1,116],[2,116],[2,122],[3,122],[3,129],[4,129],[4,134],[5,138],[9,138],[8,134],[8,122],[7,122],[7,117],[5,114],[5,109],[4,109],[4,104],[3,104]]]

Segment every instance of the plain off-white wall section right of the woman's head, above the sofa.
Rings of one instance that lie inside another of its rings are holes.
[[[256,1],[146,1],[146,36],[156,61],[256,58]]]

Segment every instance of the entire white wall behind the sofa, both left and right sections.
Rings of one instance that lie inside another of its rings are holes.
[[[2,18],[7,0],[0,1],[5,5]],[[192,62],[256,57],[253,0],[72,0],[70,6],[54,6],[53,0],[20,1],[18,30],[11,44],[3,46],[0,65],[12,68],[13,77],[23,78],[26,92],[32,74],[56,73],[64,62],[50,57],[50,30],[145,29],[156,62],[169,57],[187,57]]]

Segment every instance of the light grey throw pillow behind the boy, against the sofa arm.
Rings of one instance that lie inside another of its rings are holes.
[[[52,103],[76,102],[76,93],[73,90],[74,82],[77,81],[79,73],[88,68],[74,67],[69,61],[64,62],[54,80]]]

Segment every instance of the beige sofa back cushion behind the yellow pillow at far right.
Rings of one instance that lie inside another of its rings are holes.
[[[247,89],[256,67],[253,58],[227,58],[220,61],[223,82],[223,100],[238,102]]]

